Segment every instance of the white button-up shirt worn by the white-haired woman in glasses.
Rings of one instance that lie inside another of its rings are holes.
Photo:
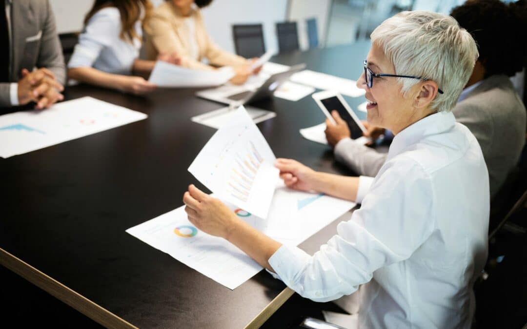
[[[281,280],[320,302],[364,284],[360,327],[469,328],[490,204],[489,175],[469,129],[452,113],[408,126],[357,201],[360,209],[315,255],[284,245],[271,256]]]

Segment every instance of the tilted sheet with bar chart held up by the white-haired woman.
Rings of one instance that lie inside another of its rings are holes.
[[[221,200],[267,218],[279,180],[275,155],[240,106],[209,139],[189,172]]]

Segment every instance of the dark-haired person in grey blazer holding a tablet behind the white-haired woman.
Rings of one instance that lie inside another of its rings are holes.
[[[451,13],[461,27],[471,32],[480,52],[472,76],[452,113],[480,144],[489,170],[491,198],[518,164],[525,144],[525,106],[508,77],[521,71],[526,56],[521,41],[526,38],[527,19],[519,17],[517,12],[495,0],[467,2]],[[343,119],[336,112],[332,115],[337,124],[326,120],[328,143],[335,147],[337,161],[363,175],[359,178],[359,187],[367,190],[372,181],[369,177],[377,175],[387,154],[355,143],[349,138]],[[372,137],[382,132],[381,128],[368,127]]]

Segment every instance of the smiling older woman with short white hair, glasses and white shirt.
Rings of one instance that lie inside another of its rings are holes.
[[[314,301],[364,285],[359,326],[470,327],[487,255],[489,175],[475,137],[450,111],[476,58],[474,40],[450,16],[403,12],[375,29],[357,85],[368,122],[395,137],[367,194],[360,178],[276,162],[290,188],[362,203],[315,255],[258,232],[193,185],[183,196],[189,220]]]

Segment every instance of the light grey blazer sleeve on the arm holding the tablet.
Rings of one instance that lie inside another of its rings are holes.
[[[354,172],[363,176],[375,177],[386,161],[387,154],[360,145],[350,138],[344,138],[335,145],[335,157]]]

